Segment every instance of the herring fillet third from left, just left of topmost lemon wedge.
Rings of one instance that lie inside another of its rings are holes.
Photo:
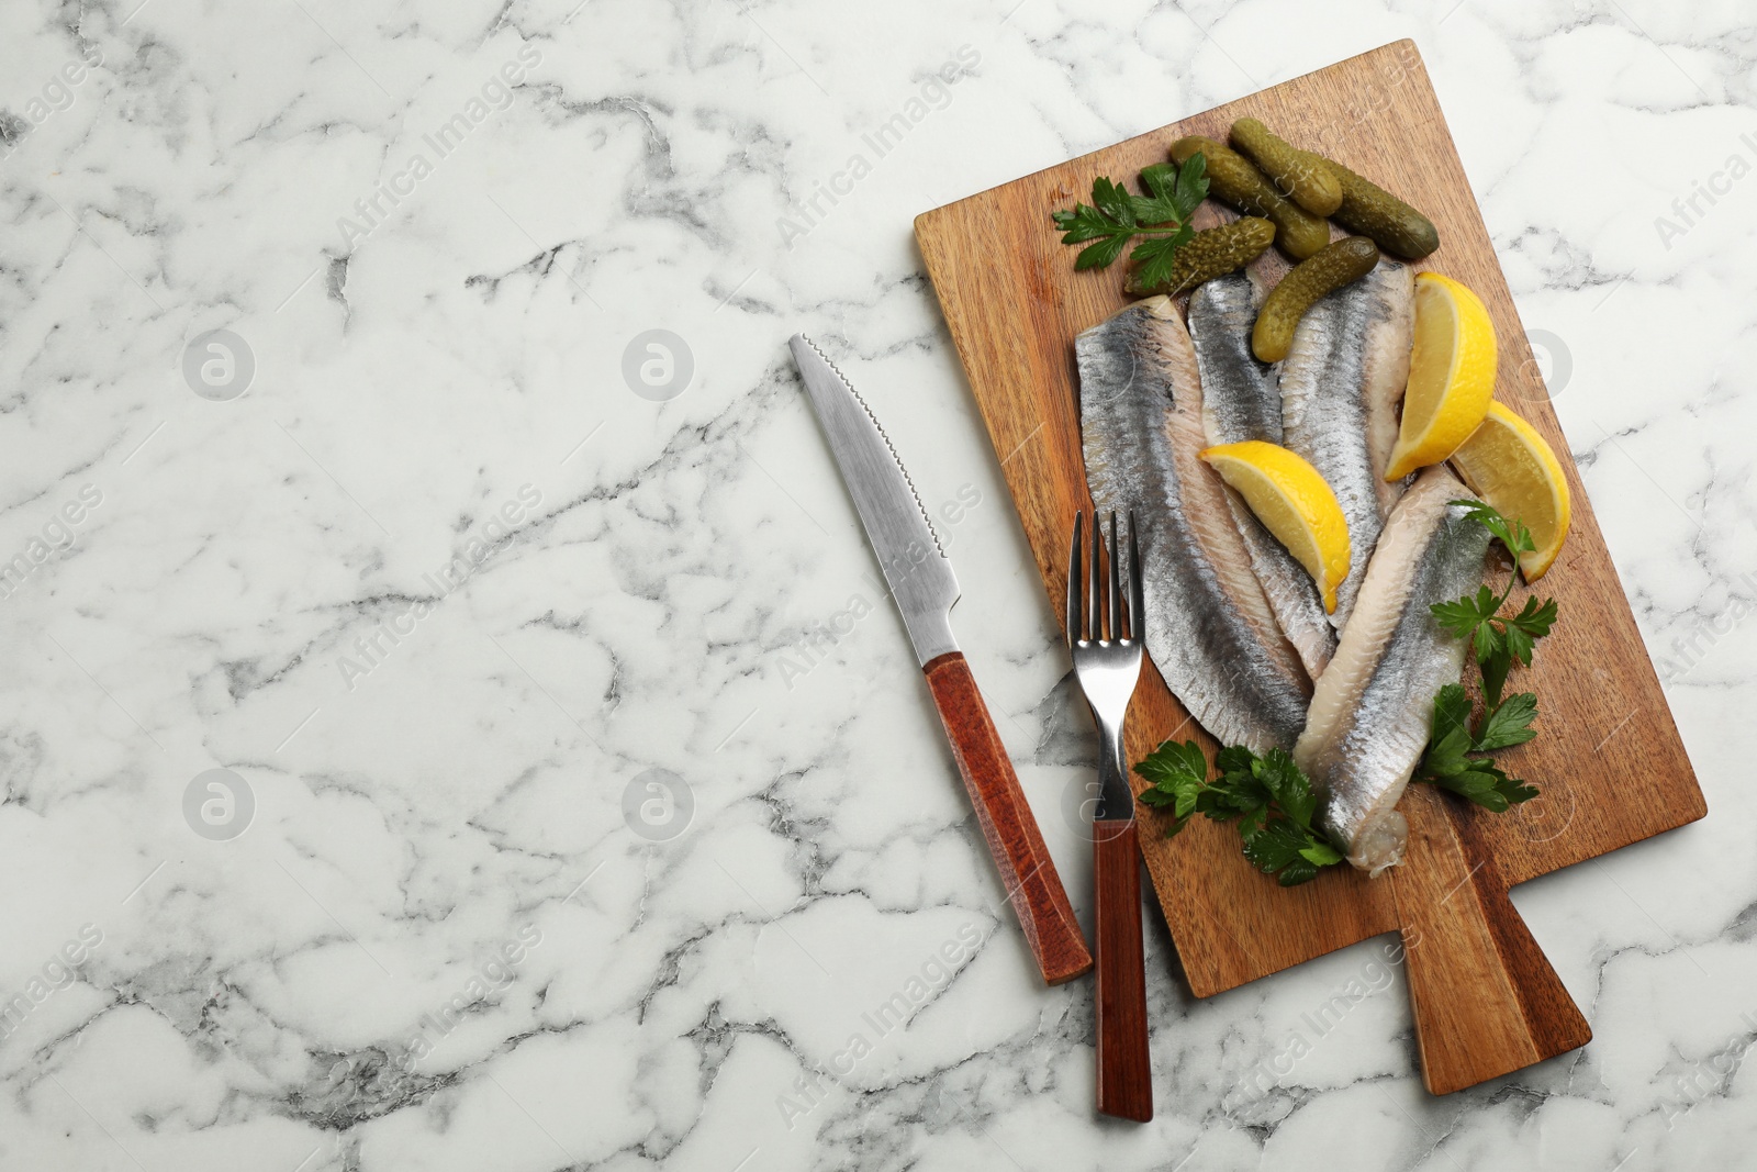
[[[1349,571],[1330,624],[1348,627],[1379,529],[1404,483],[1385,483],[1414,346],[1414,271],[1390,257],[1318,299],[1281,360],[1284,443],[1323,476],[1348,518]]]

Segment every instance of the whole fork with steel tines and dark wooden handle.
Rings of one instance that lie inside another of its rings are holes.
[[[1074,654],[1074,676],[1098,726],[1098,808],[1093,815],[1098,1111],[1146,1123],[1153,1118],[1153,1070],[1147,1058],[1147,975],[1140,942],[1140,859],[1135,794],[1128,787],[1123,757],[1123,719],[1140,680],[1146,627],[1140,538],[1130,515],[1124,601],[1116,513],[1110,513],[1109,548],[1098,515],[1093,513],[1091,571],[1082,583],[1084,522],[1084,511],[1075,513],[1068,552],[1068,648]]]

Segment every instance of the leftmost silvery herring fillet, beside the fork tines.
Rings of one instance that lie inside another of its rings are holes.
[[[1081,443],[1098,515],[1140,532],[1147,654],[1225,745],[1291,749],[1311,680],[1251,573],[1226,485],[1202,462],[1202,380],[1170,297],[1149,297],[1074,343]]]

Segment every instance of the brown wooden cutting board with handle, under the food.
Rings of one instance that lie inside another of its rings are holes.
[[[1253,872],[1230,826],[1197,819],[1165,840],[1154,815],[1142,821],[1142,854],[1197,996],[1397,930],[1423,1077],[1442,1095],[1592,1038],[1508,887],[1696,821],[1706,807],[1414,42],[936,207],[915,220],[915,239],[1059,615],[1074,513],[1091,508],[1074,336],[1126,304],[1126,265],[1077,274],[1077,250],[1059,242],[1049,214],[1091,199],[1095,176],[1133,184],[1177,137],[1225,141],[1242,116],[1353,167],[1434,220],[1441,248],[1416,267],[1481,295],[1500,337],[1495,394],[1548,438],[1573,488],[1573,531],[1539,583],[1558,599],[1560,620],[1532,668],[1513,678],[1537,692],[1541,734],[1500,754],[1541,798],[1490,814],[1411,785],[1402,866],[1377,880],[1327,868],[1293,889]],[[1209,209],[1209,221],[1230,218]],[[1284,260],[1267,262],[1267,276],[1284,271]],[[1504,582],[1504,569],[1493,573]],[[1515,603],[1523,594],[1520,587]],[[1195,734],[1212,756],[1212,740],[1149,668],[1130,710],[1130,761],[1172,734]],[[1144,787],[1139,777],[1132,782]]]

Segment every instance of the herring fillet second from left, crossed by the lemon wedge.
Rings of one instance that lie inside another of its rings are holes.
[[[1263,286],[1249,272],[1214,278],[1189,295],[1189,341],[1202,373],[1202,429],[1211,445],[1283,443],[1281,388],[1274,371],[1251,353],[1251,327],[1262,306]],[[1318,583],[1256,520],[1244,497],[1226,488],[1226,504],[1276,624],[1316,680],[1335,650],[1335,627]]]

